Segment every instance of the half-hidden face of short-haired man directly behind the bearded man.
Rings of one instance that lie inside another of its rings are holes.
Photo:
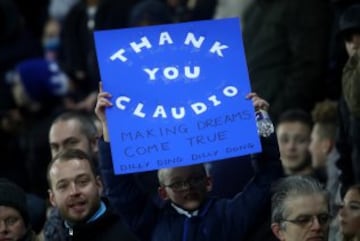
[[[97,152],[96,139],[90,140],[82,131],[78,120],[69,119],[54,123],[49,132],[51,155],[65,149],[80,149],[90,156]]]

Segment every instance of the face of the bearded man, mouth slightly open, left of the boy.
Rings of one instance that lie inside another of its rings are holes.
[[[50,202],[69,222],[87,220],[98,209],[102,183],[86,160],[57,160],[49,171]]]

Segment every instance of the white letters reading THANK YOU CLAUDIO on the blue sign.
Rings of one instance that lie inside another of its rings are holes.
[[[181,40],[180,40],[181,41]],[[194,48],[202,48],[204,41],[206,41],[206,37],[197,36],[196,33],[188,32],[185,38],[182,40],[182,44],[192,46]],[[142,51],[146,51],[147,49],[159,48],[164,45],[174,45],[179,43],[174,42],[173,37],[169,32],[161,32],[159,34],[158,41],[156,43],[150,42],[148,37],[144,36],[138,41],[133,41],[129,43],[129,46],[133,50],[134,53],[141,53]],[[220,58],[223,58],[226,51],[229,49],[228,45],[221,43],[220,41],[214,41],[211,47],[209,48],[209,52],[214,54]],[[113,53],[110,57],[111,61],[120,61],[127,62],[128,56],[125,48],[120,48],[115,53]],[[159,80],[159,75],[161,75],[161,79],[167,81],[176,81],[180,76],[185,77],[187,80],[196,80],[200,77],[201,74],[201,66],[184,66],[183,68],[177,66],[168,66],[160,69],[159,67],[153,68],[143,68],[142,69],[144,75],[149,81],[157,81]],[[238,88],[234,85],[225,86],[222,88],[222,91],[219,93],[222,97],[231,98],[236,96],[239,93]],[[186,107],[184,106],[171,106],[166,107],[165,105],[157,105],[155,110],[151,113],[145,113],[143,111],[144,104],[143,103],[131,103],[131,96],[118,96],[115,100],[116,107],[120,110],[125,110],[127,108],[133,109],[133,115],[145,118],[150,116],[152,118],[169,118],[172,117],[174,119],[182,119],[186,115]],[[206,101],[198,101],[189,104],[189,109],[195,113],[196,115],[204,113],[208,109],[208,105],[218,106],[221,104],[221,100],[218,95],[210,95],[206,97]]]

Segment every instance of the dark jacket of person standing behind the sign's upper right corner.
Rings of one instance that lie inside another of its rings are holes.
[[[254,0],[242,29],[252,90],[276,123],[287,109],[310,111],[324,91],[330,17],[324,0]]]

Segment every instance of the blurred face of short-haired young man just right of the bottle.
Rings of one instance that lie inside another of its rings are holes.
[[[302,122],[282,122],[276,134],[282,166],[287,174],[293,174],[306,167],[311,129]]]

